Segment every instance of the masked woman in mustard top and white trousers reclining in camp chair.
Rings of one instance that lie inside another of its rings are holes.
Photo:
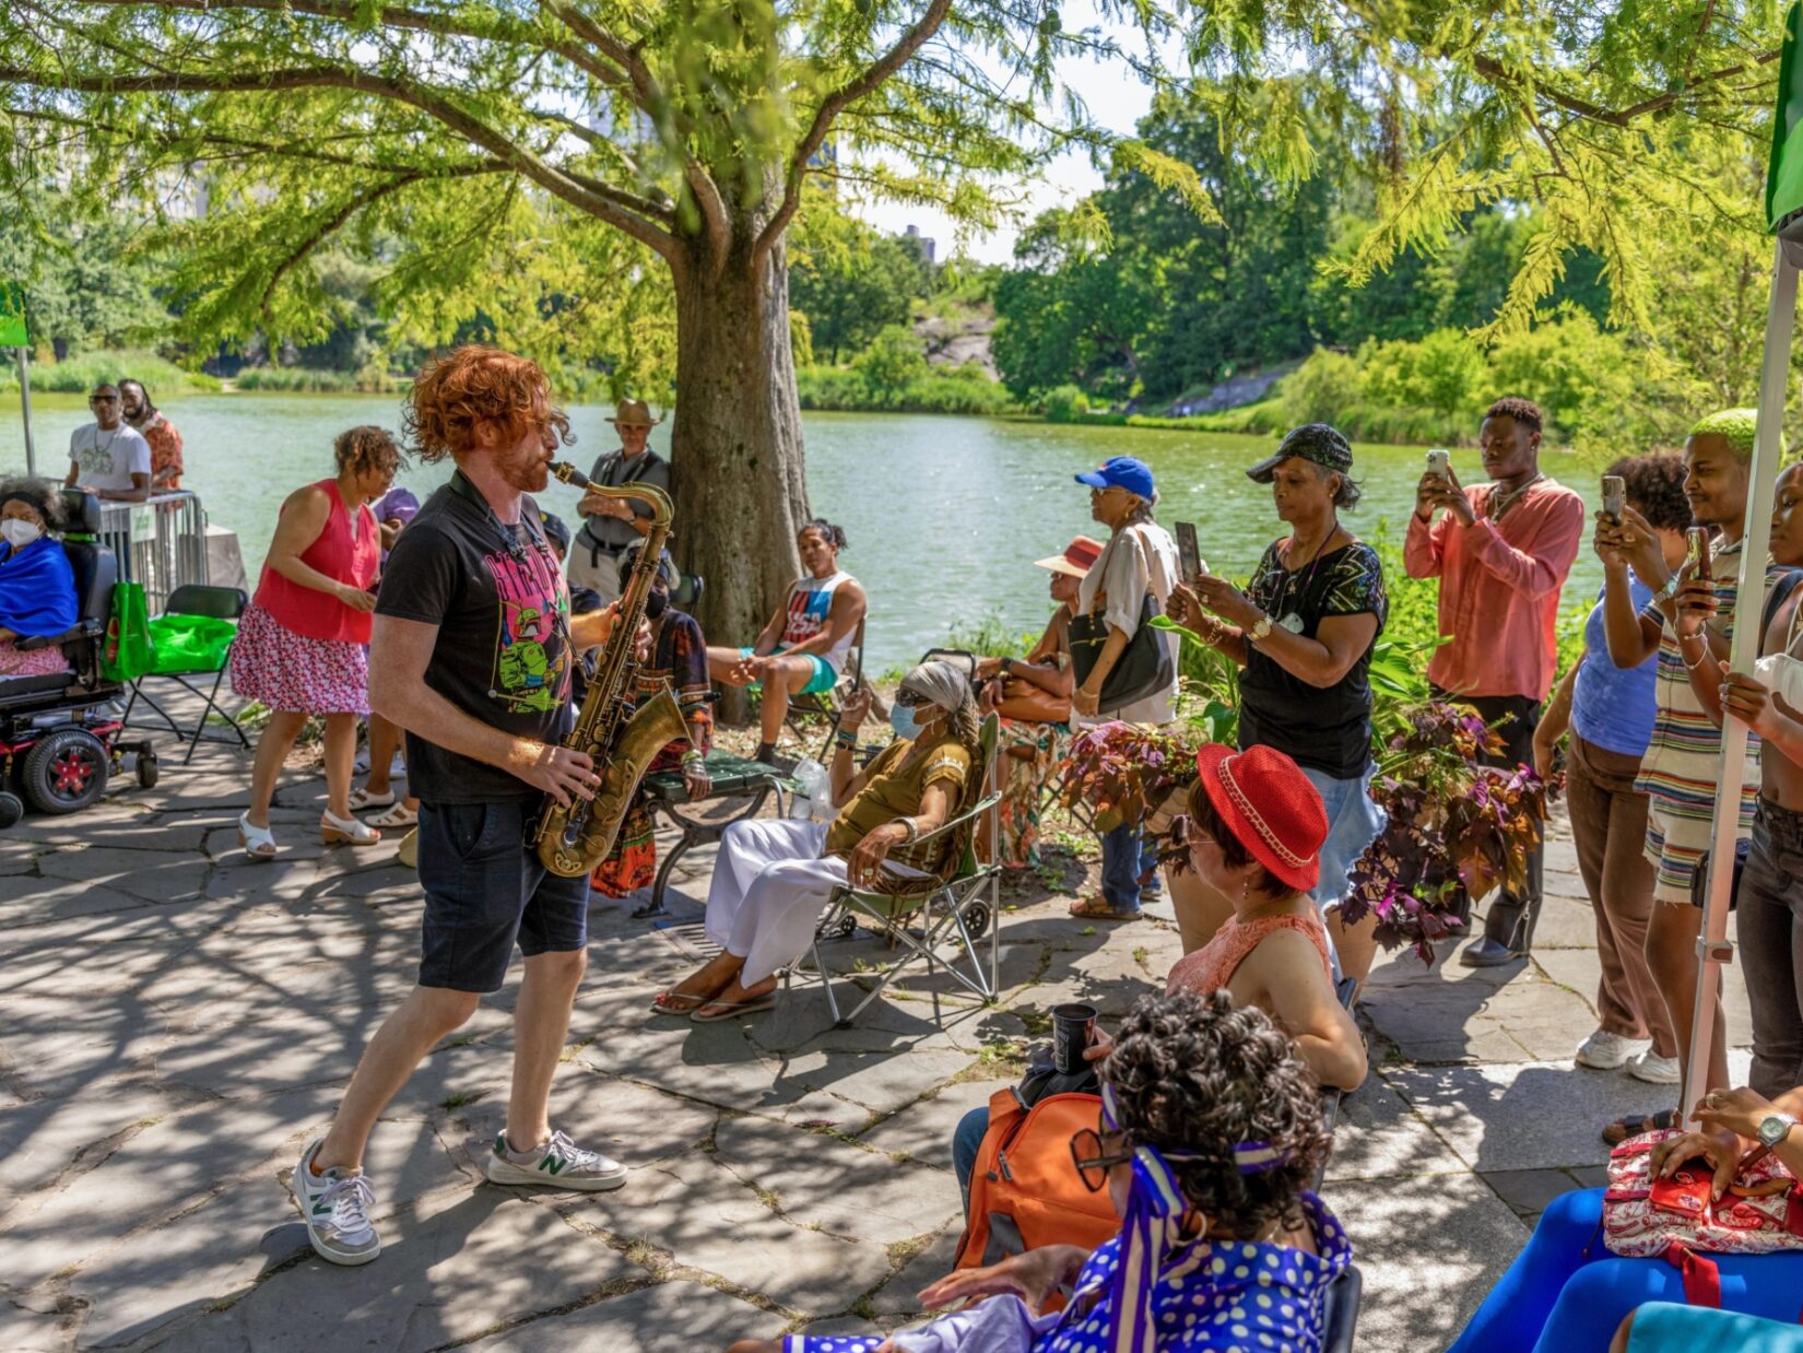
[[[707,938],[721,953],[662,992],[653,1010],[696,1021],[768,1010],[777,969],[801,958],[833,889],[882,889],[905,877],[889,851],[957,815],[979,750],[965,675],[923,662],[903,676],[889,711],[896,741],[858,770],[853,750],[869,707],[864,687],[838,716],[831,823],[754,817],[727,828],[707,893]]]

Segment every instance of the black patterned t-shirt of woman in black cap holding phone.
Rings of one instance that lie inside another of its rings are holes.
[[[1363,541],[1291,572],[1271,545],[1258,561],[1246,595],[1286,630],[1314,639],[1332,615],[1376,615],[1377,633],[1390,612],[1377,552]],[[1370,653],[1377,633],[1347,675],[1327,687],[1291,676],[1251,644],[1240,671],[1240,747],[1266,745],[1296,765],[1334,779],[1354,779],[1370,765]]]

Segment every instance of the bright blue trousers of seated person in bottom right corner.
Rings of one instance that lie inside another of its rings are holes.
[[[1716,1254],[1722,1310],[1794,1324],[1803,1250]],[[1648,1301],[1684,1301],[1684,1275],[1664,1259],[1619,1259],[1603,1245],[1603,1191],[1554,1198],[1527,1248],[1478,1306],[1450,1353],[1605,1349],[1621,1317]]]

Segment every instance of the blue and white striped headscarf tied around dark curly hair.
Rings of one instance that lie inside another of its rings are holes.
[[[1111,1133],[1121,1128],[1120,1100],[1114,1086],[1102,1084],[1102,1126]],[[1165,1268],[1165,1243],[1170,1223],[1181,1218],[1190,1201],[1183,1196],[1177,1173],[1170,1162],[1210,1160],[1197,1151],[1161,1151],[1156,1146],[1134,1144],[1132,1185],[1127,1191],[1127,1216],[1121,1218],[1121,1248],[1109,1283],[1109,1353],[1154,1353],[1158,1330],[1152,1322],[1152,1288]],[[1240,1174],[1258,1174],[1289,1160],[1289,1153],[1269,1142],[1239,1142],[1233,1160]]]

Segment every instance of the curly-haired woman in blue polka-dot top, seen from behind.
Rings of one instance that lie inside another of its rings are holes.
[[[889,1337],[790,1335],[728,1353],[1145,1353],[1318,1349],[1323,1293],[1352,1257],[1307,1191],[1327,1151],[1309,1070],[1271,1017],[1226,992],[1147,996],[1102,1064],[1094,1129],[1071,1167],[1107,1189],[1120,1234],[961,1270],[927,1308],[977,1301]],[[1039,1308],[1064,1283],[1057,1315]]]

